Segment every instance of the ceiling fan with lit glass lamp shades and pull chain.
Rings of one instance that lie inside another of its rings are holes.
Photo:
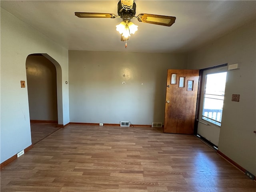
[[[120,0],[117,4],[118,16],[113,13],[91,13],[75,12],[80,18],[122,18],[123,21],[116,26],[116,30],[121,34],[121,41],[129,40],[130,34],[138,30],[138,26],[131,22],[132,18],[137,18],[139,22],[151,23],[156,25],[171,26],[176,17],[140,13],[135,16],[136,4],[134,0]],[[125,48],[127,47],[127,43]]]

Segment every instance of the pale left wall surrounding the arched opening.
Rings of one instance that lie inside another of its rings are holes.
[[[68,50],[1,8],[1,163],[32,144],[26,58],[30,54],[49,56],[57,69],[58,123],[69,122]]]

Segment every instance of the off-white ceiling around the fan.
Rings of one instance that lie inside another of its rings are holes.
[[[139,13],[175,16],[170,26],[138,22],[125,48],[116,25],[121,18],[78,18],[74,12],[117,15],[118,0],[2,1],[1,7],[69,50],[189,52],[256,18],[256,1],[135,0]]]

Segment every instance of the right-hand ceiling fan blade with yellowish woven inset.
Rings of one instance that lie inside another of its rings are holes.
[[[137,18],[138,18],[138,21],[140,22],[163,25],[163,26],[171,26],[172,24],[174,24],[176,19],[176,17],[172,17],[172,16],[154,15],[154,14],[146,14],[146,13],[138,14]]]

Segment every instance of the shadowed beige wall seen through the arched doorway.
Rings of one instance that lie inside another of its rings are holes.
[[[56,68],[44,56],[26,60],[30,120],[58,121]]]

